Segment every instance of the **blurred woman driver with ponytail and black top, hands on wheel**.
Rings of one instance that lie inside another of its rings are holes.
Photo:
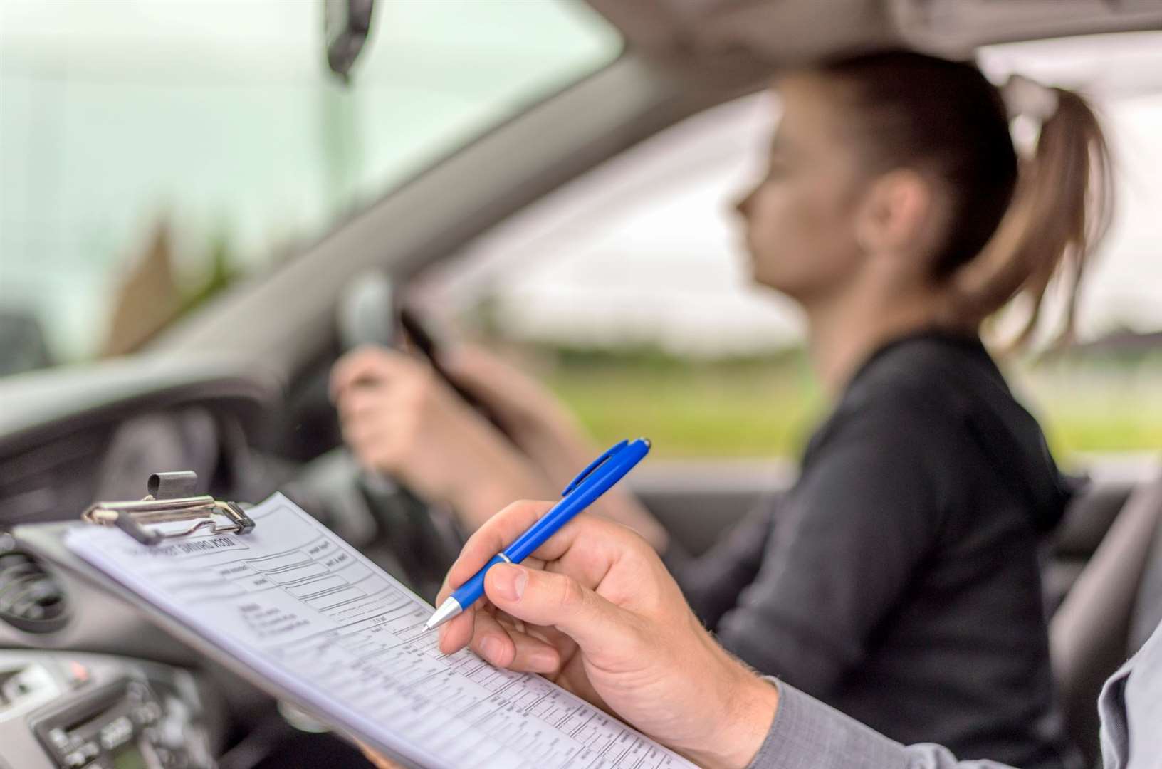
[[[760,671],[903,742],[1066,766],[1038,544],[1069,490],[978,332],[1019,297],[1027,339],[1050,280],[1071,322],[1109,214],[1099,124],[1076,94],[1018,80],[1011,95],[1042,121],[1019,159],[1002,93],[971,64],[912,52],[775,89],[767,175],[738,210],[754,279],[805,312],[834,408],[794,488],[702,558],[627,495],[596,511],[664,552],[702,621]],[[446,365],[523,453],[419,364],[363,350],[332,393],[364,463],[475,529],[594,455],[519,374],[471,351]],[[489,656],[487,638],[478,648]]]

